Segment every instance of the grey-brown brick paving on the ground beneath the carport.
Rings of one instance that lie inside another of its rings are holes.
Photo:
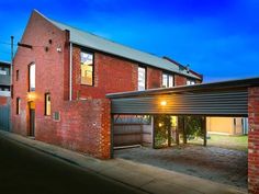
[[[188,145],[164,149],[123,149],[116,150],[115,157],[247,187],[246,151]]]

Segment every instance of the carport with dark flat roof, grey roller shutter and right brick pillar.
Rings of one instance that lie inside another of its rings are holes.
[[[259,192],[259,78],[108,94],[114,115],[248,117],[248,191]],[[111,135],[113,156],[113,135]]]

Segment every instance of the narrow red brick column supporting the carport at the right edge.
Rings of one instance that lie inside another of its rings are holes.
[[[248,89],[248,192],[259,193],[259,87]]]

